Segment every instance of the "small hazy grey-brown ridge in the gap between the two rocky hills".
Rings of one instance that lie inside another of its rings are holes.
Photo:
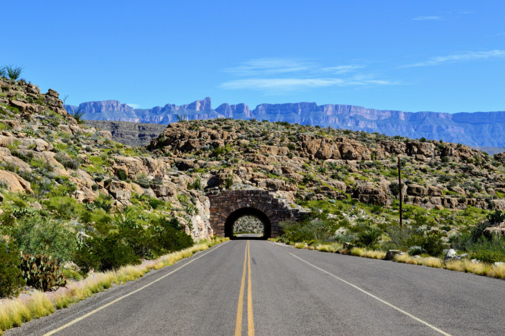
[[[112,140],[131,147],[147,146],[153,138],[167,126],[162,124],[142,124],[140,122],[115,122],[107,120],[85,120],[90,127],[110,131]]]

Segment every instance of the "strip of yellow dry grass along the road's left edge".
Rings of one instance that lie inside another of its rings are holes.
[[[74,302],[84,300],[91,295],[110,288],[114,283],[120,284],[134,281],[143,277],[151,270],[159,270],[177,261],[188,258],[199,251],[208,250],[212,246],[228,241],[228,238],[217,238],[212,241],[201,241],[182,251],[160,256],[152,261],[145,261],[141,265],[125,266],[116,271],[94,273],[87,279],[69,283],[65,288],[55,292],[39,292],[20,299],[0,300],[0,335],[4,330],[21,326],[31,319],[51,314],[56,309],[70,306]]]

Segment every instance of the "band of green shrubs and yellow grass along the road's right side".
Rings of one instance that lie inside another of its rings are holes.
[[[396,262],[505,279],[505,236],[493,230],[505,221],[500,210],[428,211],[406,205],[400,227],[397,205],[385,209],[352,200],[299,202],[311,214],[304,221],[282,223],[282,235],[270,240],[372,259],[384,259],[387,251],[396,250]],[[449,249],[457,257],[444,260]]]

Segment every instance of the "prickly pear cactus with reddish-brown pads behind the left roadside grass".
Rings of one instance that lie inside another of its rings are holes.
[[[28,286],[34,286],[44,292],[53,287],[66,285],[62,270],[59,269],[55,259],[45,254],[21,254],[21,276]]]

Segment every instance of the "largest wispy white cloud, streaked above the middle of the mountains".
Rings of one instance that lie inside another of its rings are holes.
[[[242,78],[228,80],[219,87],[272,93],[328,86],[396,84],[378,80],[373,74],[359,73],[362,68],[365,66],[354,64],[320,66],[302,59],[252,59],[235,68],[226,68],[226,73]]]

